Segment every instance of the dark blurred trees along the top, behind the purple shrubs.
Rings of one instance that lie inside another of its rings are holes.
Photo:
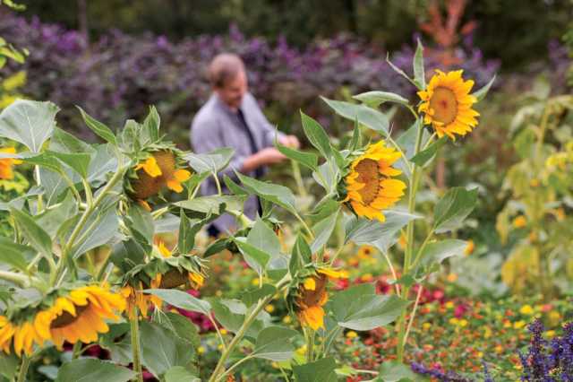
[[[152,31],[172,39],[220,34],[234,22],[247,37],[285,36],[296,47],[349,32],[386,49],[410,43],[428,22],[429,0],[24,0],[26,15],[88,30]],[[317,12],[320,10],[320,12]],[[462,24],[475,22],[475,44],[503,70],[515,70],[548,54],[573,17],[571,0],[467,1]]]

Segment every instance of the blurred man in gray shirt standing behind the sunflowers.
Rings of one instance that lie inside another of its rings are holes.
[[[286,157],[273,147],[275,135],[278,143],[295,148],[299,146],[295,135],[276,133],[262,114],[248,91],[244,63],[239,56],[228,53],[216,56],[209,66],[209,81],[213,94],[193,118],[191,142],[197,153],[211,152],[220,147],[235,150],[227,169],[218,174],[223,187],[223,175],[236,179],[234,170],[261,178],[267,166],[284,161]],[[201,191],[203,195],[217,194],[215,180],[206,180]],[[255,196],[244,204],[245,215],[252,219],[260,209],[261,204]],[[209,233],[217,236],[219,232],[234,230],[235,227],[235,218],[226,214],[211,224]]]

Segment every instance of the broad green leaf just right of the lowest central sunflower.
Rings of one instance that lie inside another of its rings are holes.
[[[372,284],[356,285],[338,291],[329,303],[338,326],[353,330],[372,330],[396,320],[408,301],[397,296],[376,294]]]

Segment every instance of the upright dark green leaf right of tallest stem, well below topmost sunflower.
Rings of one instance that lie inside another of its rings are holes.
[[[474,210],[476,203],[477,188],[450,188],[434,208],[433,229],[436,233],[456,230]]]

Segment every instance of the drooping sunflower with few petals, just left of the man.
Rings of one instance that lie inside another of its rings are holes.
[[[176,164],[175,153],[162,150],[153,152],[149,158],[135,166],[133,170],[137,178],[132,180],[135,199],[147,199],[158,194],[163,187],[181,193],[181,183],[191,178],[191,172],[177,169]]]

